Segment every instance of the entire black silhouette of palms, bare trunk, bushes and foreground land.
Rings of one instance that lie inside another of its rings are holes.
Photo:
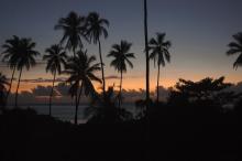
[[[55,30],[63,31],[57,44],[45,51],[46,72],[53,74],[50,116],[33,109],[18,108],[18,94],[23,69],[36,64],[40,52],[32,39],[13,35],[2,45],[3,62],[12,69],[10,83],[0,74],[0,159],[1,160],[239,160],[242,141],[241,94],[230,90],[232,84],[205,78],[199,82],[179,79],[167,101],[160,101],[160,67],[170,61],[172,43],[165,33],[147,40],[147,6],[144,0],[146,56],[146,98],[135,103],[138,117],[122,108],[122,75],[130,58],[132,44],[121,41],[112,45],[110,66],[120,73],[119,94],[106,87],[101,37],[108,37],[109,21],[97,12],[87,17],[70,12],[61,18]],[[242,33],[233,35],[228,55],[240,54],[233,66],[242,64]],[[98,45],[99,63],[84,46],[84,41]],[[72,52],[72,56],[67,53]],[[150,98],[150,58],[157,65],[157,98]],[[19,72],[15,108],[8,108],[8,97]],[[101,72],[101,78],[96,72]],[[75,103],[75,125],[52,117],[52,97],[58,74],[68,75],[69,95]],[[102,85],[98,93],[92,82]],[[85,111],[86,125],[77,125],[81,94],[91,98]]]

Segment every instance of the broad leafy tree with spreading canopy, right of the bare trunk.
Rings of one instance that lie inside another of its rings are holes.
[[[232,103],[237,94],[228,89],[232,84],[223,83],[224,77],[218,79],[204,78],[199,82],[179,79],[175,89],[170,90],[169,104],[186,106],[188,104],[200,104],[221,107]]]

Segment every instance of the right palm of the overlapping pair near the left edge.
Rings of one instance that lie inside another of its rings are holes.
[[[29,71],[32,66],[36,64],[35,56],[37,56],[40,53],[35,51],[36,43],[32,42],[31,39],[20,39],[20,49],[19,53],[14,56],[16,60],[16,69],[20,71],[18,86],[16,86],[16,93],[15,93],[15,107],[18,107],[18,96],[19,96],[19,87],[20,87],[20,79],[23,72],[23,68],[25,67],[26,71]]]

